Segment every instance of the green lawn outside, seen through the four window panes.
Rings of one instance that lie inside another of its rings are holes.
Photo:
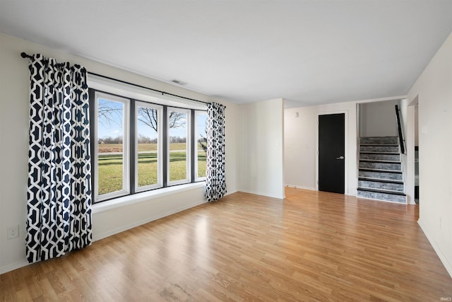
[[[145,144],[155,145],[155,144]],[[173,144],[171,144],[173,145]],[[170,150],[185,149],[185,144],[174,144]],[[183,145],[183,146],[181,146]],[[102,146],[102,145],[101,145]],[[150,147],[150,146],[147,146]],[[182,147],[182,148],[181,148]],[[180,149],[178,149],[180,148]],[[138,148],[139,149],[139,148]],[[157,153],[138,153],[138,186],[153,185],[157,182]],[[201,155],[202,153],[202,155]],[[198,175],[206,175],[206,155],[198,156]],[[102,154],[99,156],[99,194],[115,192],[122,187],[122,154]],[[186,178],[186,152],[169,153],[169,180]]]

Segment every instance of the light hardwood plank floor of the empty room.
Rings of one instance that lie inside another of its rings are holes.
[[[417,206],[242,192],[0,275],[1,301],[441,301]]]

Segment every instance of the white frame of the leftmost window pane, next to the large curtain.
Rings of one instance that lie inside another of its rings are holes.
[[[94,134],[93,138],[95,141],[94,153],[93,153],[93,167],[95,168],[94,178],[93,178],[93,194],[95,202],[102,202],[108,199],[113,199],[121,196],[125,196],[130,194],[130,99],[124,98],[119,95],[114,95],[112,93],[106,93],[104,91],[94,91],[94,119],[95,122],[93,124]],[[98,128],[99,128],[99,111],[98,104],[99,99],[103,100],[111,100],[113,102],[122,103],[124,105],[124,110],[122,112],[122,127],[123,127],[123,137],[122,137],[122,189],[119,191],[109,192],[106,194],[99,194],[99,137],[98,137]]]

